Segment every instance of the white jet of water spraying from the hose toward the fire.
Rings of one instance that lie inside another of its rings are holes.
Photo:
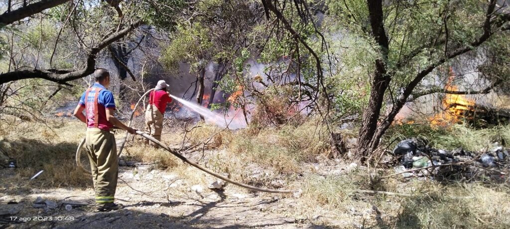
[[[189,107],[195,112],[199,113],[199,115],[201,115],[206,120],[206,122],[214,123],[221,128],[225,128],[227,126],[229,129],[239,129],[246,127],[246,122],[242,118],[242,112],[240,111],[240,109],[232,113],[228,112],[227,115],[223,115],[221,113],[213,112],[210,109],[200,106],[196,103],[181,98],[177,98],[174,95],[170,95],[170,97],[172,97],[172,99],[179,101],[180,103]]]

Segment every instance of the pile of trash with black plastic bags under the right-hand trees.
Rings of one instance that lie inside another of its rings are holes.
[[[423,140],[411,138],[400,141],[393,150],[401,165],[395,167],[397,173],[404,178],[423,177],[427,175],[473,176],[473,171],[484,169],[506,175],[494,169],[510,164],[509,150],[494,142],[492,149],[486,152],[469,152],[462,148],[452,151],[434,149]],[[420,169],[423,168],[423,169]],[[410,170],[409,172],[406,172]]]

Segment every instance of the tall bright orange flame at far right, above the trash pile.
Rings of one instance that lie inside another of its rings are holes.
[[[448,83],[445,85],[445,90],[458,91],[458,88],[452,83],[454,77],[455,75],[450,67]],[[431,126],[447,126],[453,123],[460,123],[464,112],[473,109],[472,107],[475,104],[475,102],[468,99],[466,95],[455,94],[447,94],[442,103],[444,111],[429,119]]]

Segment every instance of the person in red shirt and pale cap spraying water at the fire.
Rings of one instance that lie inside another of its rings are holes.
[[[166,110],[166,105],[172,102],[170,94],[167,92],[170,85],[166,84],[165,80],[158,81],[154,91],[149,94],[149,105],[145,111],[145,132],[150,136],[161,140],[161,131],[163,130],[163,114]],[[144,140],[145,145],[150,143],[151,146],[158,148],[154,142],[149,142],[148,139]]]

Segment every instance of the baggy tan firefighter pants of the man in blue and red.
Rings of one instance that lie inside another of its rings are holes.
[[[113,203],[119,171],[115,136],[110,131],[87,128],[85,147],[90,159],[96,204]]]

